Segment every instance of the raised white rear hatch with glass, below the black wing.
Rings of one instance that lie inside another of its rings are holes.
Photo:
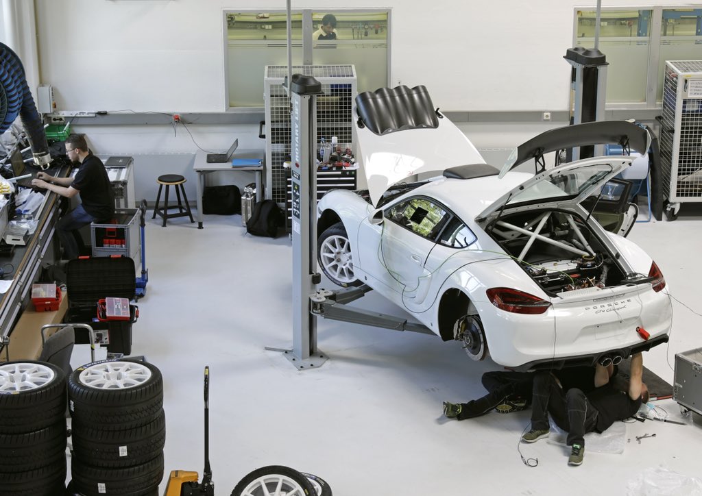
[[[531,203],[574,205],[597,192],[612,177],[631,166],[633,156],[598,156],[544,170],[501,196],[476,218],[485,219],[506,206]],[[602,191],[604,196],[606,191]]]

